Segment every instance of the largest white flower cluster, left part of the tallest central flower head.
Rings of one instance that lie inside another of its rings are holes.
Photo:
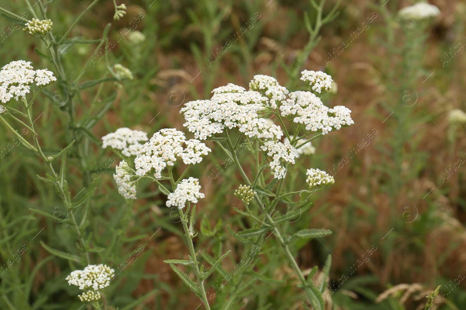
[[[262,97],[259,92],[238,92],[237,87],[233,84],[225,86],[223,90],[219,87],[210,100],[191,101],[181,109],[186,120],[183,125],[194,132],[196,139],[205,140],[222,133],[225,127],[239,128],[257,119],[257,113],[268,106],[267,97]],[[221,92],[227,89],[237,92]]]

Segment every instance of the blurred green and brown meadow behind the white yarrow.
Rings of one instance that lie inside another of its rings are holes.
[[[54,33],[63,34],[91,1],[48,2]],[[144,248],[109,287],[109,309],[194,310],[199,300],[163,263],[187,255],[177,216],[153,185],[140,184],[138,199],[124,201],[112,178],[119,159],[99,147],[100,138],[125,126],[149,135],[161,128],[181,130],[184,103],[210,98],[213,88],[227,83],[247,87],[255,74],[305,90],[299,80],[304,69],[332,76],[336,86],[322,101],[347,106],[355,124],[313,141],[315,154],[300,157],[293,172],[297,183],[304,182],[297,176],[309,167],[332,172],[336,181],[315,195],[306,214],[289,223],[296,229],[333,231],[295,245],[301,269],[322,268],[332,255],[328,309],[424,309],[425,296],[438,285],[441,293],[432,309],[466,309],[466,127],[449,117],[454,109],[466,109],[465,1],[431,0],[441,14],[419,26],[397,19],[397,11],[412,0],[327,0],[322,18],[335,5],[339,13],[322,25],[320,40],[310,46],[305,14],[312,24],[320,10],[312,2],[126,0],[126,15],[114,21],[113,2],[101,0],[74,28],[74,37],[95,40],[112,23],[108,45],[96,49],[97,44],[70,43],[62,48],[70,83],[105,77],[107,54],[112,64],[123,64],[134,76],[80,93],[78,121],[92,114],[91,102],[99,110],[115,92],[116,99],[93,128],[80,129],[93,154],[89,165],[77,168],[78,157],[68,164],[69,187],[76,196],[83,186],[97,187],[89,223],[93,233],[86,237],[96,247],[119,244],[102,257],[94,253],[93,259],[116,268]],[[33,17],[24,1],[2,6]],[[34,53],[35,47],[45,49],[43,43],[23,33],[22,26],[2,18],[0,30],[2,66],[24,59],[54,71]],[[48,91],[52,97],[41,95],[34,125],[44,148],[52,152],[69,143],[71,129],[61,107],[69,94],[58,86]],[[73,252],[72,233],[29,209],[62,217],[60,212],[66,211],[55,189],[35,177],[45,174],[40,160],[14,145],[13,138],[0,127],[1,262],[23,245],[27,251],[11,273],[0,275],[0,292],[9,300],[0,298],[0,308],[80,309],[77,289],[64,280],[73,266],[51,257],[40,244]],[[224,243],[238,258],[243,245],[225,226],[241,222],[233,211],[241,205],[233,197],[240,175],[219,150],[209,156],[191,171],[206,194],[198,204],[202,242],[196,247],[215,252]],[[249,165],[246,156],[241,160]],[[272,239],[263,246],[266,253],[274,247]],[[234,309],[304,309],[285,257],[275,253],[258,259],[264,265],[273,260],[267,273],[286,283],[257,285],[241,295]],[[224,269],[235,264],[226,260]],[[27,285],[27,294],[12,284]]]

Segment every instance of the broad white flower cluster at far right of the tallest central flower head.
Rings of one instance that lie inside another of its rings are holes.
[[[291,92],[288,99],[282,102],[280,111],[283,117],[296,115],[293,119],[295,123],[306,125],[306,130],[311,132],[322,131],[322,134],[354,124],[351,110],[345,106],[330,109],[312,92]]]

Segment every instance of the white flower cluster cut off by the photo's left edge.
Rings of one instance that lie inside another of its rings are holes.
[[[30,61],[17,60],[1,68],[0,71],[0,101],[7,103],[10,99],[24,99],[31,89],[31,84],[44,87],[56,81],[51,71],[34,71]]]

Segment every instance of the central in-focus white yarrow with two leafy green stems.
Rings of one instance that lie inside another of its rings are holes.
[[[332,79],[329,75],[317,73],[315,76],[318,78],[311,81],[312,74],[310,71],[304,71],[302,75],[302,80],[308,83],[312,91],[320,94],[330,88]],[[171,265],[183,282],[203,301],[205,308],[210,309],[204,281],[229,252],[219,257],[215,263],[211,262],[212,269],[209,272],[203,271],[203,265],[199,268],[192,243],[192,239],[197,236],[193,227],[196,206],[192,209],[190,206],[197,204],[199,199],[204,198],[204,194],[200,191],[199,179],[185,178],[185,175],[192,165],[201,162],[203,156],[211,152],[201,141],[211,140],[234,163],[243,178],[244,184],[235,190],[234,196],[241,200],[246,211],[235,210],[256,221],[251,229],[230,232],[242,242],[260,244],[264,234],[272,231],[300,279],[300,287],[305,291],[310,305],[322,310],[325,303],[322,294],[327,276],[321,277],[320,283],[314,283],[311,277],[306,279],[289,249],[289,244],[297,238],[322,237],[330,231],[306,229],[288,235],[287,231],[280,228],[279,223],[288,219],[286,215],[281,214],[280,206],[297,205],[305,211],[310,207],[309,195],[335,183],[334,178],[325,171],[308,169],[306,189],[285,191],[287,172],[293,169],[299,154],[315,152],[311,145],[313,139],[354,124],[350,116],[351,111],[344,106],[329,108],[324,106],[313,92],[290,92],[280,86],[275,78],[256,75],[249,83],[249,90],[230,83],[215,88],[211,99],[185,103],[180,112],[185,117],[184,126],[194,134],[195,139],[186,139],[183,132],[174,128],[162,129],[137,152],[134,170],[125,162],[121,162],[115,175],[119,192],[125,198],[135,198],[137,178],[149,178],[167,195],[166,205],[178,208],[190,256],[188,260],[171,259],[165,262]],[[240,145],[248,145],[248,150],[254,156],[255,172],[252,175],[248,175],[240,164]],[[179,158],[188,166],[175,178],[173,167]],[[267,173],[267,168],[270,169],[270,173]],[[167,171],[168,175],[164,171]],[[171,190],[162,184],[164,181],[170,182]],[[295,194],[301,197],[303,192],[308,193],[307,198],[296,202],[290,200]],[[188,220],[190,210],[192,211]],[[176,264],[192,266],[197,282],[175,266]],[[324,268],[326,273],[329,264],[330,258]],[[235,297],[230,298],[233,300],[228,303],[234,302]]]

